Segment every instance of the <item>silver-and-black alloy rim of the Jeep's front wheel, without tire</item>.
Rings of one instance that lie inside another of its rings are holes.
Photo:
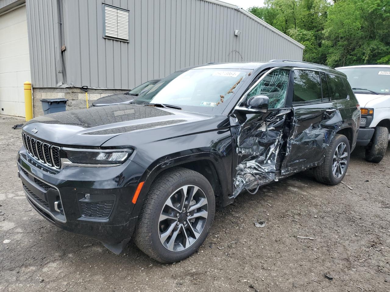
[[[206,225],[207,207],[206,195],[197,186],[185,185],[172,193],[158,220],[161,244],[171,252],[193,245]]]

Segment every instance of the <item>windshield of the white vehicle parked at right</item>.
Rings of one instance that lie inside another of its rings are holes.
[[[390,67],[358,67],[337,69],[347,75],[348,82],[357,91],[372,90],[390,94]],[[370,94],[370,91],[367,91]]]

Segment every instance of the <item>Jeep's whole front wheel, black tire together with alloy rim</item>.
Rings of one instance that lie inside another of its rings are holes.
[[[192,195],[194,190],[196,192]],[[183,193],[188,197],[183,196]],[[192,199],[189,199],[191,195]],[[186,198],[184,204],[183,197]],[[205,202],[207,204],[204,204]],[[184,212],[181,212],[180,208]],[[204,214],[205,210],[207,215],[199,216],[200,213]],[[169,215],[169,218],[161,220],[166,217],[162,213]],[[161,175],[152,184],[138,216],[135,244],[158,262],[184,260],[202,245],[209,234],[214,215],[215,196],[209,181],[199,172],[176,167]],[[167,234],[170,235],[165,238]]]

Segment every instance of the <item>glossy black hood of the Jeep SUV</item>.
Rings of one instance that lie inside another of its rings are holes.
[[[39,116],[25,123],[22,129],[29,135],[62,146],[99,147],[119,134],[208,118],[208,115],[180,110],[117,104]]]

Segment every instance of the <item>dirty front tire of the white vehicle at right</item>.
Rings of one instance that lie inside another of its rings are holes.
[[[389,141],[389,131],[386,127],[375,127],[369,146],[366,148],[365,157],[369,162],[379,163],[385,156]]]

